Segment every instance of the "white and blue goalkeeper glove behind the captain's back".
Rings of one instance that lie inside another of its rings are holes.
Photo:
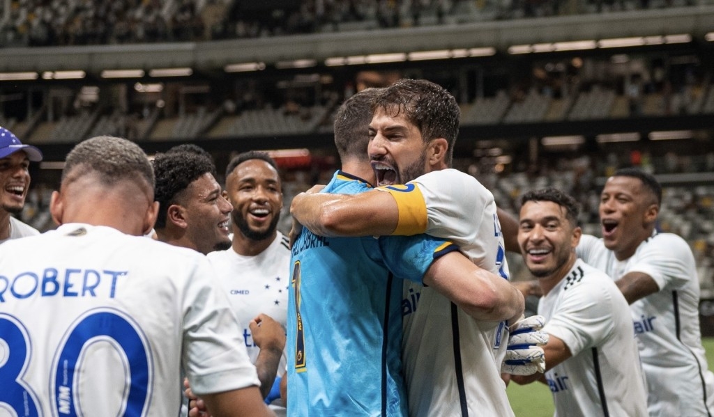
[[[508,327],[508,348],[501,372],[511,375],[533,375],[545,372],[545,352],[540,346],[548,343],[543,329],[545,317],[530,316]]]

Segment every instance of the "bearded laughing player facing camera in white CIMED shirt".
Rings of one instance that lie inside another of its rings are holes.
[[[263,396],[268,397],[273,387],[274,399],[279,396],[278,386],[286,369],[283,351],[290,281],[288,238],[277,230],[283,192],[275,161],[267,153],[256,151],[236,156],[226,169],[226,192],[233,205],[233,244],[228,250],[211,252],[208,260],[218,272],[238,322],[244,325],[243,339],[248,356],[258,368]],[[266,339],[266,335],[256,335],[248,326],[257,314],[263,314],[262,332],[268,327],[268,319],[273,321],[271,339],[280,340],[279,346],[261,346],[258,337]],[[271,407],[284,415],[281,404]]]

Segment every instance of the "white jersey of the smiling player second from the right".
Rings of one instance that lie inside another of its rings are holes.
[[[648,415],[630,309],[612,279],[578,259],[538,314],[573,354],[545,372],[555,416]]]

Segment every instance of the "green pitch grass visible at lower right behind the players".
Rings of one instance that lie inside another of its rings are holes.
[[[702,344],[707,351],[709,369],[714,371],[714,337],[702,339]],[[545,384],[534,382],[521,386],[511,383],[507,391],[516,417],[553,417],[553,397]]]

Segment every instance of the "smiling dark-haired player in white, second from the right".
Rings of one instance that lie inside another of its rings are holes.
[[[612,279],[575,255],[582,230],[578,206],[555,188],[521,200],[518,243],[538,278],[538,314],[548,333],[545,378],[562,416],[647,416],[647,394],[625,297]]]

